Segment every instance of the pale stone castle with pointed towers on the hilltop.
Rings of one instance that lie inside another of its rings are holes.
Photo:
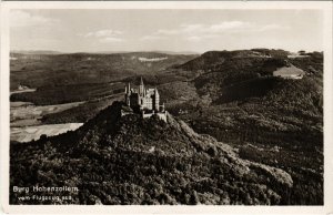
[[[160,120],[167,122],[167,111],[164,103],[160,105],[160,94],[157,88],[145,89],[141,78],[139,89],[131,89],[131,84],[125,86],[125,104],[132,112],[140,113],[142,117],[157,115]],[[131,114],[131,111],[122,110],[121,115]]]

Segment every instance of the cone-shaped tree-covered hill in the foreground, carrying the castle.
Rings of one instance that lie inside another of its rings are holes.
[[[233,147],[171,115],[168,123],[120,117],[121,109],[114,102],[75,132],[12,144],[11,185],[79,187],[71,201],[42,204],[289,202],[293,178],[286,172],[242,160]],[[41,204],[20,195],[11,192],[10,203]]]

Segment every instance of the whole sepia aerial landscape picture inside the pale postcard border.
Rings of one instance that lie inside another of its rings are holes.
[[[9,205],[329,203],[323,7],[7,18]]]

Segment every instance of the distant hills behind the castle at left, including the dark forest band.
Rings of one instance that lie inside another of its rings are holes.
[[[11,101],[30,101],[46,105],[108,98],[122,92],[122,82],[133,78],[155,80],[148,81],[151,84],[178,80],[178,76],[168,74],[157,80],[155,75],[195,57],[155,52],[12,54],[11,91],[18,84],[37,91],[14,94]]]

